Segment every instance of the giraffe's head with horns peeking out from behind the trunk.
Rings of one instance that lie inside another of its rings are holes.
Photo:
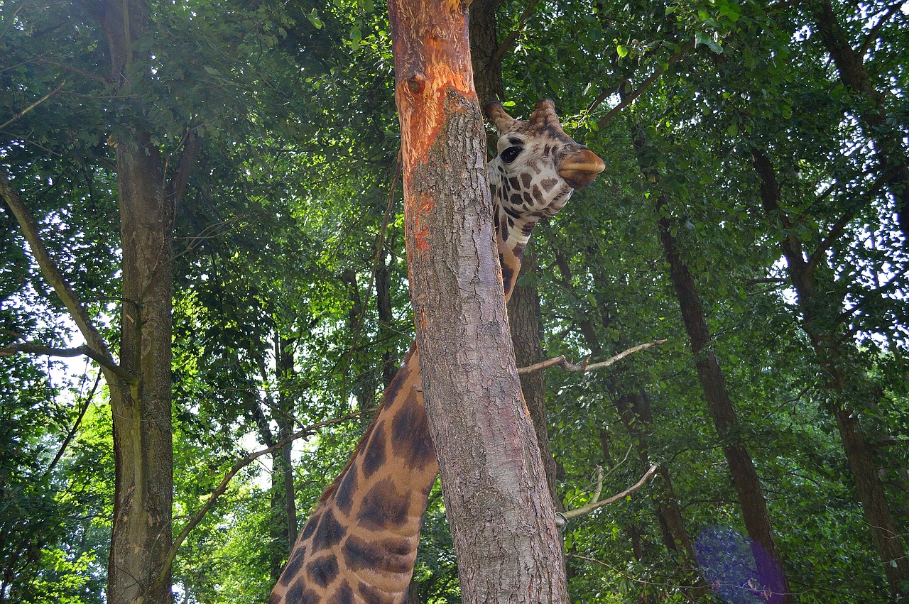
[[[487,104],[485,113],[499,136],[498,152],[486,167],[490,190],[498,213],[519,224],[521,234],[529,236],[540,218],[554,216],[574,189],[604,170],[603,160],[564,133],[549,99],[537,103],[527,120],[515,120],[498,103]]]

